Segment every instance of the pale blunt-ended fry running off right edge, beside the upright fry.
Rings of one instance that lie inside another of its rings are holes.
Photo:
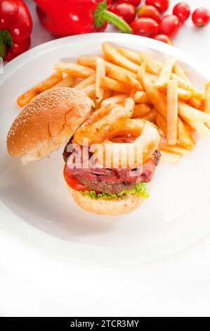
[[[210,115],[203,111],[198,111],[196,108],[185,104],[182,101],[178,101],[178,113],[186,122],[195,121],[202,122],[210,127]]]

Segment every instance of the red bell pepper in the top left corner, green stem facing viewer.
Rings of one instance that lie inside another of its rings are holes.
[[[32,17],[22,0],[0,0],[0,56],[4,61],[27,51]]]

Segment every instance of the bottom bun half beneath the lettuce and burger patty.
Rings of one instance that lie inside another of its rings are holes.
[[[150,183],[147,184],[147,190],[150,188]],[[81,194],[79,191],[68,187],[72,193],[74,201],[79,207],[90,213],[107,215],[107,216],[118,216],[124,213],[133,211],[140,204],[143,203],[145,198],[142,196],[129,195],[121,199],[91,199],[89,196]]]

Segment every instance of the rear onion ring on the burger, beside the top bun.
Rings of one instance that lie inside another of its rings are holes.
[[[73,142],[83,145],[84,138],[88,139],[89,145],[105,142],[122,130],[126,121],[131,118],[133,107],[134,101],[131,98],[125,99],[122,104],[103,106],[79,127],[74,133]]]

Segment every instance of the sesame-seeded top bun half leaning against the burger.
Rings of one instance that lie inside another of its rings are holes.
[[[22,163],[37,161],[65,144],[88,118],[93,101],[77,89],[56,88],[37,96],[15,118],[8,153]]]

